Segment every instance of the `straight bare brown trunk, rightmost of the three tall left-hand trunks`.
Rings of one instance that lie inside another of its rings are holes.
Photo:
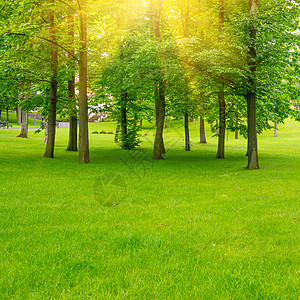
[[[80,0],[80,57],[79,57],[79,163],[90,163],[87,102],[87,0]]]

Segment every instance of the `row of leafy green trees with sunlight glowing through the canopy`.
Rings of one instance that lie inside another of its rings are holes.
[[[299,118],[299,1],[3,0],[0,22],[0,108],[23,111],[21,136],[26,112],[40,109],[44,157],[54,157],[59,113],[67,150],[90,162],[90,108],[117,120],[124,149],[139,145],[142,120],[155,121],[154,160],[166,153],[166,119],[183,118],[190,151],[189,119],[200,117],[200,142],[204,120],[217,131],[217,158],[235,131],[258,169],[257,134]]]

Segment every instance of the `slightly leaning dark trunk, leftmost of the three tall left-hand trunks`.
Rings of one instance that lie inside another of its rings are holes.
[[[53,4],[55,0],[50,0]],[[49,22],[49,33],[52,41],[56,41],[55,36],[55,23],[54,23],[54,12],[48,16]],[[50,104],[49,104],[49,115],[48,115],[48,139],[44,157],[53,158],[54,157],[54,146],[55,146],[55,130],[56,130],[56,104],[57,104],[57,65],[58,65],[58,53],[57,46],[51,46],[51,69],[52,78],[50,81]]]

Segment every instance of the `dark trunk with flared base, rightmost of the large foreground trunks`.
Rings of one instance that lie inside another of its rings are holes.
[[[250,0],[250,13],[255,16],[257,10],[257,0]],[[257,151],[257,131],[256,131],[256,24],[253,23],[250,29],[249,45],[249,77],[248,82],[250,90],[245,95],[247,100],[247,117],[248,117],[248,165],[250,170],[259,169],[258,151]]]

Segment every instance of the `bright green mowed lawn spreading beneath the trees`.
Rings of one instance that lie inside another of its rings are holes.
[[[135,151],[92,124],[90,165],[65,151],[67,129],[55,159],[42,133],[1,129],[0,298],[299,299],[299,123],[259,137],[256,171],[244,139],[217,160],[208,128],[200,145],[191,123],[185,152],[181,125],[152,161],[151,124]]]

